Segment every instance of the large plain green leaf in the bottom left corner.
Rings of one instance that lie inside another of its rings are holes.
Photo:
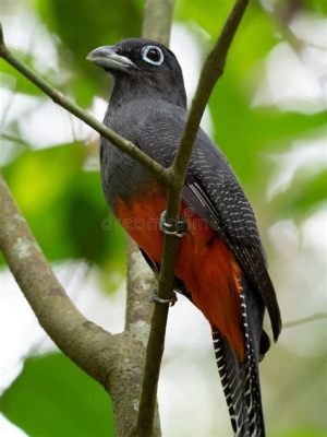
[[[63,354],[28,358],[0,411],[31,437],[113,436],[108,394]]]

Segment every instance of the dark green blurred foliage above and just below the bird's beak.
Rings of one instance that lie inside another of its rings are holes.
[[[95,47],[140,35],[140,2],[81,0],[76,4],[65,0],[36,0],[36,11],[49,31],[60,37],[65,67],[74,66],[70,91],[80,105],[89,105],[95,95],[104,93],[106,82],[99,80],[98,71],[85,61],[86,55]]]

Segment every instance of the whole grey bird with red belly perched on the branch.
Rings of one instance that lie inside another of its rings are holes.
[[[187,119],[174,54],[157,42],[128,38],[87,59],[113,78],[104,123],[169,167]],[[253,209],[220,149],[199,128],[171,229],[165,186],[143,164],[100,139],[107,202],[146,261],[159,271],[165,233],[180,237],[174,290],[208,320],[233,435],[263,437],[258,363],[277,341],[281,316]],[[157,302],[160,299],[157,298]]]

